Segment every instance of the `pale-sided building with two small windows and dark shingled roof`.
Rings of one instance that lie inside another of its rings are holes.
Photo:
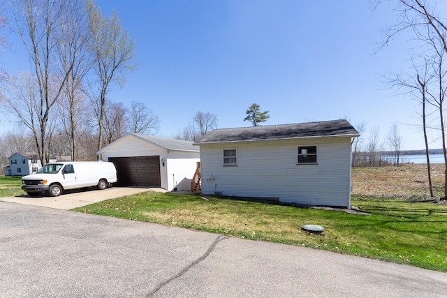
[[[350,208],[359,135],[346,120],[214,129],[194,143],[202,193]]]

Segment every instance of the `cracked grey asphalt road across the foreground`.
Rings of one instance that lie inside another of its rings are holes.
[[[447,274],[0,202],[0,297],[446,297]]]

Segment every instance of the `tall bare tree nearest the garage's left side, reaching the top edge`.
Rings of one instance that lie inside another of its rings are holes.
[[[98,102],[98,150],[103,145],[103,120],[105,118],[105,96],[110,84],[124,84],[124,74],[135,69],[132,64],[135,42],[126,29],[122,29],[115,10],[112,17],[105,17],[91,0],[87,0],[91,51],[94,52],[94,69],[97,77],[98,94],[92,96]],[[98,159],[100,156],[98,156]]]

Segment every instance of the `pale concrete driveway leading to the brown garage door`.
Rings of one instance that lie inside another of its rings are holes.
[[[19,204],[27,204],[41,207],[49,207],[62,210],[70,210],[101,202],[103,200],[124,197],[125,195],[133,195],[135,193],[142,193],[145,191],[166,192],[163,188],[140,188],[140,187],[111,187],[103,190],[89,188],[87,191],[73,190],[66,191],[59,197],[50,197],[49,195],[38,195],[37,197],[30,197],[23,195],[20,197],[0,198],[3,202],[13,202]]]

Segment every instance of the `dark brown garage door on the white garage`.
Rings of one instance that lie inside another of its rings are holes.
[[[160,187],[160,156],[113,157],[120,186]]]

